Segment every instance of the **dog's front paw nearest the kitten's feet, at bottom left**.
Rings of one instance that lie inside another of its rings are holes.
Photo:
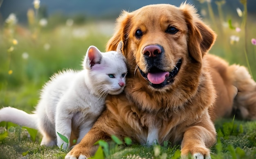
[[[65,159],[88,159],[90,157],[89,152],[85,148],[81,148],[76,145],[70,152],[67,153]]]

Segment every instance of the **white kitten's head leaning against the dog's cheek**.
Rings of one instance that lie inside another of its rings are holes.
[[[127,68],[126,59],[120,51],[100,52],[95,46],[90,46],[83,68],[88,70],[85,78],[90,78],[94,92],[105,96],[120,94],[124,90]]]

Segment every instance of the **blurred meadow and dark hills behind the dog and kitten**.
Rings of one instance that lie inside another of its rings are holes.
[[[81,69],[88,46],[102,52],[122,10],[184,0],[0,0],[0,107],[34,110],[49,77]],[[256,0],[186,0],[218,34],[211,49],[256,79]]]

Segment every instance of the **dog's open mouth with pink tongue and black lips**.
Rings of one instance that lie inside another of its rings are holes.
[[[164,72],[159,68],[150,68],[148,73],[144,73],[139,67],[139,72],[141,75],[149,82],[150,86],[154,88],[162,88],[168,84],[172,84],[174,77],[178,74],[182,64],[182,59],[180,59],[171,72]],[[149,79],[150,78],[150,79]]]

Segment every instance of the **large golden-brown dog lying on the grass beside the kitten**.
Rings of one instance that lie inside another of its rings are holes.
[[[243,118],[256,117],[256,83],[244,67],[207,53],[215,39],[189,4],[124,11],[107,50],[123,41],[125,91],[108,96],[106,110],[65,159],[90,157],[94,143],[110,135],[143,145],[168,140],[181,145],[184,158],[211,158],[216,118],[234,108]]]

